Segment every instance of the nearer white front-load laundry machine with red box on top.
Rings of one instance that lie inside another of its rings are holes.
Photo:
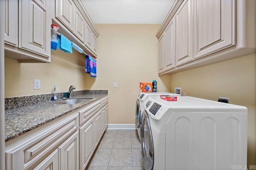
[[[194,97],[148,97],[141,120],[145,170],[246,166],[247,108]]]

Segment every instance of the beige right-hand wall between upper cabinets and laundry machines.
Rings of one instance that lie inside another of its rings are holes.
[[[256,165],[256,53],[170,75],[171,91],[248,108],[248,165]],[[248,167],[249,168],[249,167]]]

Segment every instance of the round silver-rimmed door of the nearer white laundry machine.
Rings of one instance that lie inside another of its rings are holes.
[[[142,164],[145,170],[152,170],[154,166],[154,145],[150,120],[146,111],[143,111],[142,113],[140,128],[140,153],[142,157]]]

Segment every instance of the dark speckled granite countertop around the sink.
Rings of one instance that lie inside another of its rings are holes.
[[[84,91],[82,91],[84,92]],[[101,93],[102,92],[102,93]],[[44,101],[20,107],[14,107],[12,109],[5,110],[5,141],[19,136],[29,130],[32,130],[40,125],[52,121],[62,115],[65,115],[71,111],[79,109],[80,107],[87,105],[93,101],[96,101],[104,96],[107,96],[107,91],[95,91],[92,93],[73,93],[72,98],[92,98],[84,103],[66,105],[66,104],[54,104],[54,101]],[[30,96],[34,99],[34,96]],[[8,99],[10,102],[10,99]],[[17,99],[16,99],[17,101]]]

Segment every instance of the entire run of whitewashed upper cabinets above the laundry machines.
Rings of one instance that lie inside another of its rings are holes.
[[[256,0],[175,0],[156,34],[158,74],[255,53],[255,8]]]

